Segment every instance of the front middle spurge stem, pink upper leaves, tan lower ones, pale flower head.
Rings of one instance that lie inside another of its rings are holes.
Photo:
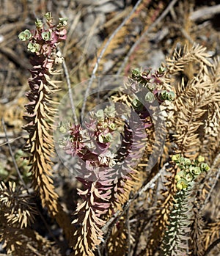
[[[67,154],[78,158],[76,178],[84,185],[84,191],[78,189],[84,202],[78,205],[73,221],[80,224],[74,233],[74,255],[93,255],[103,235],[101,227],[106,222],[101,216],[111,208],[113,194],[116,197],[120,193],[116,188],[119,167],[116,168],[117,159],[111,149],[118,127],[115,113],[114,106],[91,112],[84,127],[70,126],[69,137],[62,143],[66,143],[63,148]]]

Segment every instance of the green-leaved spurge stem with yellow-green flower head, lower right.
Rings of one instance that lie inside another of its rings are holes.
[[[193,188],[197,177],[202,172],[207,172],[210,167],[202,156],[190,160],[177,154],[172,156],[172,161],[179,167],[175,175],[177,193],[164,234],[161,255],[188,255],[188,239],[194,214],[192,208],[196,196]]]

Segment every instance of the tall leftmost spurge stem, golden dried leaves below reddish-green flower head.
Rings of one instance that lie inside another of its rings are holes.
[[[64,228],[69,236],[70,223],[65,218],[65,213],[58,202],[53,180],[51,179],[51,156],[54,153],[52,138],[54,116],[56,109],[52,95],[59,89],[57,82],[51,76],[56,75],[55,65],[62,59],[57,54],[59,42],[66,39],[66,19],[59,19],[54,25],[51,13],[45,15],[46,24],[37,20],[36,29],[29,32],[25,30],[18,37],[29,41],[27,48],[33,53],[29,78],[29,92],[26,93],[29,103],[26,104],[24,119],[27,124],[23,128],[29,133],[25,150],[29,153],[30,172],[32,185],[40,194],[43,207],[48,208],[51,216]],[[59,60],[59,61],[58,61]]]

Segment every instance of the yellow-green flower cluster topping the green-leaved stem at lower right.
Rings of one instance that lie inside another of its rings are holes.
[[[201,172],[208,172],[210,169],[208,164],[204,162],[203,156],[191,161],[177,154],[172,156],[172,161],[175,161],[177,167],[180,168],[180,171],[175,175],[178,190],[186,190]]]

